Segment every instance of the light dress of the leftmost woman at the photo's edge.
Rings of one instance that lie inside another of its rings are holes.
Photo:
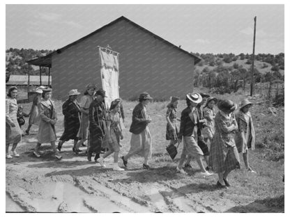
[[[6,99],[6,144],[19,143],[21,140],[22,131],[17,122],[17,101],[16,99]],[[11,127],[14,123],[15,127]]]

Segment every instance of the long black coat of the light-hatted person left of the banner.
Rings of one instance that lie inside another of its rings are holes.
[[[80,125],[80,110],[79,104],[70,99],[63,103],[63,115],[64,115],[64,132],[59,140],[67,141],[70,139],[77,140],[77,132]]]

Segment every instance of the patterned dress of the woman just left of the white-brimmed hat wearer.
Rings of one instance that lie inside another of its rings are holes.
[[[178,126],[177,126],[177,111],[176,109],[169,104],[167,106],[166,117],[169,117],[170,122],[173,125],[173,129],[170,124],[167,122],[166,125],[166,140],[171,140],[174,144],[177,143],[178,140]]]

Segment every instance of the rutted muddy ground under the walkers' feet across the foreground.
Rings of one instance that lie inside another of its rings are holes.
[[[35,144],[36,132],[24,136],[17,148],[20,158],[6,159],[6,211],[284,211],[283,184],[282,191],[272,197],[255,192],[253,180],[265,178],[263,172],[249,174],[243,169],[236,170],[229,177],[232,186],[221,190],[215,187],[217,176],[202,177],[194,162],[193,168],[187,170],[188,175],[176,173],[176,162],[167,154],[153,154],[151,170],[144,170],[142,158],[136,156],[130,159],[125,171],[116,172],[112,170],[112,156],[105,161],[107,168],[101,168],[100,164],[87,161],[84,153],[73,154],[73,141],[63,145],[61,161],[54,159],[48,144],[42,147],[45,154],[37,159],[32,155]],[[127,146],[123,149],[128,150]],[[121,160],[119,165],[123,166]],[[243,182],[241,176],[245,178]],[[283,201],[283,205],[273,206],[273,200]]]

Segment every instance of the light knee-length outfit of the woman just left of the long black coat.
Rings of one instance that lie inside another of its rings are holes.
[[[50,143],[56,140],[54,125],[50,121],[56,118],[54,103],[42,99],[38,103],[40,122],[38,128],[38,143]]]

